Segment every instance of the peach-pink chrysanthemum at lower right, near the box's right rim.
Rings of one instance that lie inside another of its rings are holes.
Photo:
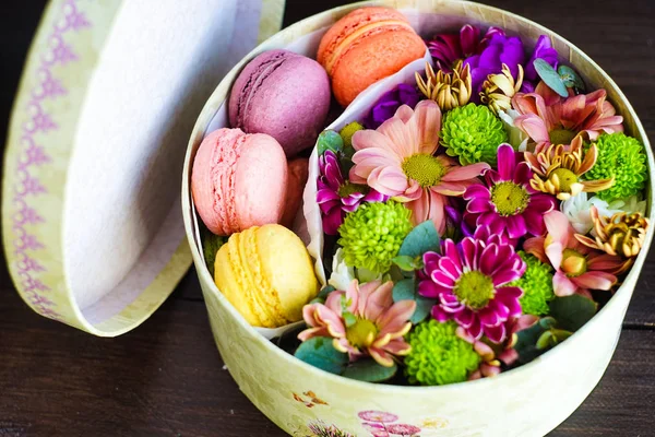
[[[527,239],[523,249],[555,269],[552,288],[557,296],[574,293],[591,297],[591,290],[608,291],[624,268],[618,257],[591,249],[575,238],[575,231],[560,211],[544,217],[546,237]]]

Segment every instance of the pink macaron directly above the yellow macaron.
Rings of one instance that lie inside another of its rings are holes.
[[[218,129],[200,144],[191,173],[191,193],[205,226],[230,235],[278,223],[284,212],[287,161],[271,135]]]

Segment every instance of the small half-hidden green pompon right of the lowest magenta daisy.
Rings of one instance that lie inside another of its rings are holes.
[[[552,290],[552,268],[543,263],[537,257],[519,251],[519,256],[527,264],[523,276],[510,284],[523,290],[523,296],[519,299],[523,314],[533,316],[546,316],[550,312],[548,303],[555,298]]]

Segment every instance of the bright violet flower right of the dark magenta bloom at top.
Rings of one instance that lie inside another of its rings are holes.
[[[510,68],[512,75],[517,78],[519,64],[523,66],[524,62],[525,52],[521,38],[517,36],[508,37],[500,32],[492,34],[485,49],[464,61],[464,64],[471,66],[472,99],[479,103],[483,83],[489,74],[500,73],[503,63]]]

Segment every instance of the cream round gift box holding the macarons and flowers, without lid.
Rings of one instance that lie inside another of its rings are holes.
[[[386,429],[390,435],[453,437],[546,435],[583,402],[609,364],[653,238],[652,228],[616,295],[573,336],[534,362],[498,377],[441,387],[359,382],[296,359],[243,320],[218,292],[205,268],[189,190],[191,163],[204,134],[216,128],[216,115],[225,110],[224,103],[236,75],[257,54],[298,45],[298,42],[311,45],[311,38],[315,39],[317,34],[320,38],[321,31],[324,32],[341,16],[369,4],[408,11],[421,28],[428,22],[449,31],[464,23],[477,23],[502,26],[526,40],[534,42],[541,34],[549,35],[555,48],[564,54],[587,83],[607,90],[609,101],[624,117],[626,131],[645,144],[651,169],[647,198],[648,204],[652,204],[653,154],[634,110],[594,61],[557,34],[502,10],[454,0],[386,0],[323,12],[276,34],[235,67],[206,103],[189,142],[182,181],[184,226],[218,350],[241,391],[271,421],[291,435],[318,435],[313,430],[317,427],[330,428],[333,434],[324,435],[335,436],[374,435],[376,429]],[[436,28],[432,26],[432,32]],[[653,220],[652,212],[650,217]]]

